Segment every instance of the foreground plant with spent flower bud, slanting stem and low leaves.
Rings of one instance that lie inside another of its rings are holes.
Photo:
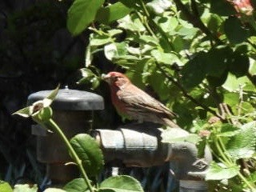
[[[52,119],[53,111],[50,104],[58,94],[59,86],[53,90],[50,95],[42,101],[34,102],[32,106],[27,106],[22,110],[18,110],[14,114],[22,117],[31,117],[34,122],[44,127],[48,131],[54,131],[65,142],[67,149],[70,152],[70,157],[78,166],[82,178],[75,178],[73,181],[66,184],[62,190],[49,188],[46,191],[143,191],[140,183],[130,176],[116,176],[110,177],[101,183],[92,182],[97,181],[97,176],[102,171],[104,162],[102,150],[100,150],[98,143],[88,134],[77,134],[70,141],[63,134],[62,130]],[[90,178],[94,178],[90,180]],[[125,184],[124,184],[125,183]],[[6,192],[13,191],[9,184],[2,182],[0,185]],[[16,185],[14,191],[37,191],[37,186]]]

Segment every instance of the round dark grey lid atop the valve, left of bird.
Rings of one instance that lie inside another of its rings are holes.
[[[42,90],[30,94],[28,105],[46,98],[52,90]],[[55,110],[103,110],[104,100],[102,96],[83,90],[58,90],[58,94],[52,103]]]

